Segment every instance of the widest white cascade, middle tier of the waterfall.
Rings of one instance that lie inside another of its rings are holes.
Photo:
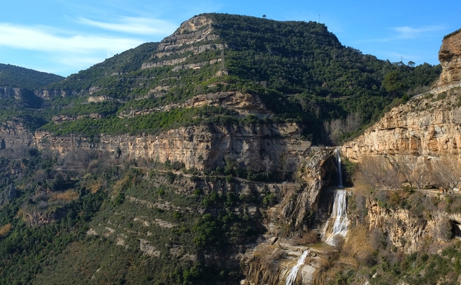
[[[331,232],[329,232],[329,222],[334,220]],[[322,232],[322,240],[329,245],[337,245],[337,240],[334,237],[338,235],[346,237],[349,219],[347,219],[347,191],[336,190],[334,195],[333,212],[329,217]],[[329,234],[327,235],[327,231]]]

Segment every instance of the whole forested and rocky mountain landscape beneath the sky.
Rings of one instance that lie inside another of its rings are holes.
[[[0,283],[455,284],[457,36],[415,67],[201,14],[1,98]]]

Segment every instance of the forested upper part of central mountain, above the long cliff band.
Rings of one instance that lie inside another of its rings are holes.
[[[144,43],[44,87],[36,94],[51,98],[44,103],[48,111],[35,115],[49,122],[43,130],[97,135],[158,133],[186,124],[146,127],[171,117],[165,110],[177,109],[175,118],[203,114],[193,124],[210,118],[236,123],[223,118],[237,110],[240,119],[251,113],[264,118],[265,113],[276,122],[300,123],[306,138],[329,144],[379,118],[395,98],[427,89],[439,73],[440,66],[390,63],[342,46],[326,26],[312,21],[201,14],[162,43]],[[388,74],[388,86],[397,81],[392,88],[383,84]],[[252,102],[243,107],[217,103],[236,94]],[[212,106],[203,110],[204,105]],[[91,122],[91,131],[75,120],[95,113],[101,115]],[[332,135],[334,123],[344,124],[348,114],[355,114],[355,126]],[[51,120],[56,115],[72,118],[57,126]],[[133,115],[139,118],[128,118]],[[124,125],[129,128],[120,128]]]

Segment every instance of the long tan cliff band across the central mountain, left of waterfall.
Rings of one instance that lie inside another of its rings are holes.
[[[242,167],[262,170],[262,159],[269,157],[274,168],[284,163],[288,171],[294,171],[310,147],[300,133],[292,123],[229,128],[202,125],[159,135],[101,135],[98,141],[42,132],[36,133],[33,141],[40,148],[51,147],[61,153],[76,147],[109,152],[119,148],[126,157],[179,161],[199,170],[223,165],[226,155],[236,157]]]

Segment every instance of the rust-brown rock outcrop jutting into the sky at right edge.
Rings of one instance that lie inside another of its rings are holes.
[[[442,74],[437,87],[461,82],[461,33],[445,38],[439,51]]]

